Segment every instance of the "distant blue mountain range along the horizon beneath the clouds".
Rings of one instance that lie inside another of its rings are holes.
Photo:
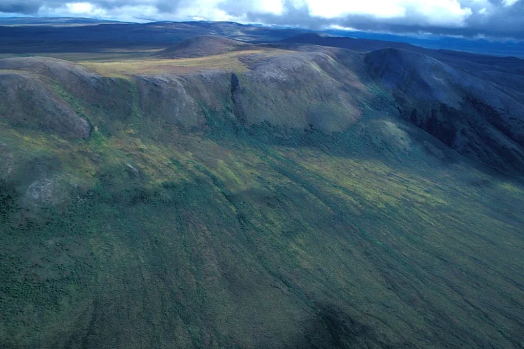
[[[92,25],[116,25],[126,24],[129,27],[104,27],[93,30],[82,28]],[[242,25],[235,22],[211,22],[211,21],[158,21],[145,24],[118,22],[80,17],[9,17],[0,18],[0,26],[47,26],[56,27],[56,30],[45,30],[39,28],[12,29],[11,31],[0,31],[0,36],[8,39],[34,39],[38,35],[42,40],[111,40],[135,42],[176,42],[196,35],[224,35],[238,40],[263,40],[275,41],[296,36],[298,33],[322,33],[331,36],[353,37],[358,39],[370,39],[388,42],[404,42],[419,47],[430,49],[459,50],[478,54],[489,54],[498,56],[515,56],[524,58],[524,44],[518,41],[501,40],[493,41],[487,39],[467,39],[444,36],[412,36],[395,35],[388,33],[374,33],[347,30],[324,30],[316,32],[312,30],[288,28],[288,27],[266,27],[261,25]],[[78,26],[74,30],[64,32],[60,27]],[[235,35],[227,28],[244,27],[244,36]],[[48,28],[50,29],[50,28]],[[185,33],[182,34],[180,30]]]

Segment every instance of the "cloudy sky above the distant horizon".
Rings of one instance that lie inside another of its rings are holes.
[[[227,20],[315,30],[524,39],[524,0],[0,0],[0,16]]]

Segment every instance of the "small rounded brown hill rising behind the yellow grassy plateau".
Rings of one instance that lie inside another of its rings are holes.
[[[154,54],[158,58],[194,58],[247,49],[250,45],[219,36],[198,36]]]

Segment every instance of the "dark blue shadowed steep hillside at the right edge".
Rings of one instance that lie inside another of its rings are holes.
[[[522,99],[419,53],[384,49],[365,61],[405,119],[463,154],[524,169]]]

